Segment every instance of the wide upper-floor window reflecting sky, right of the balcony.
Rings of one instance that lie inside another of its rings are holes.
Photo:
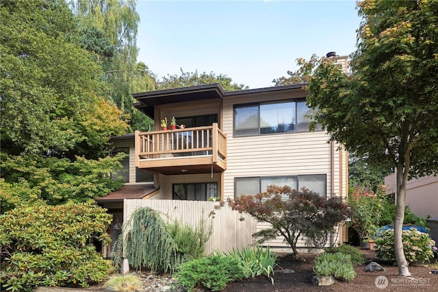
[[[234,136],[308,132],[311,108],[305,100],[234,107]]]

